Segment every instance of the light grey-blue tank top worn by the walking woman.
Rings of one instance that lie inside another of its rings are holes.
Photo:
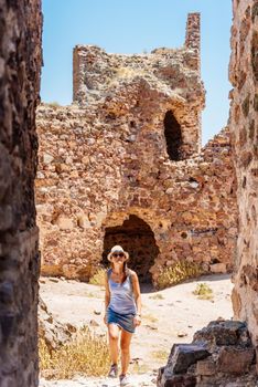
[[[110,291],[110,302],[108,307],[119,314],[136,314],[136,301],[131,284],[130,274],[122,283],[114,282],[110,279],[111,269],[108,270],[108,284]]]

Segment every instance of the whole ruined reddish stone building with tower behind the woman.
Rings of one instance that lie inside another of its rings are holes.
[[[112,244],[141,280],[178,260],[230,269],[232,150],[228,130],[201,150],[204,100],[197,13],[175,50],[74,49],[74,103],[37,111],[43,273],[88,280]]]

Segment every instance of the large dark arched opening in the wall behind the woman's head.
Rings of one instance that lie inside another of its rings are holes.
[[[115,244],[120,244],[130,254],[128,265],[135,270],[140,282],[151,282],[150,268],[159,253],[154,234],[148,223],[130,215],[121,226],[106,228],[103,263],[108,264],[107,254]]]

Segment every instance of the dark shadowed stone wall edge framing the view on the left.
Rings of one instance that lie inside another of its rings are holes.
[[[37,385],[35,106],[41,1],[1,1],[0,11],[0,385]]]

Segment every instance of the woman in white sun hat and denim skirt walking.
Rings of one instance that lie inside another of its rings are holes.
[[[141,324],[141,295],[137,273],[127,268],[129,254],[115,245],[108,254],[111,268],[106,275],[106,294],[104,317],[108,326],[111,367],[109,377],[118,376],[118,339],[120,337],[121,374],[120,386],[129,384],[127,375],[130,360],[130,343],[136,326]]]

